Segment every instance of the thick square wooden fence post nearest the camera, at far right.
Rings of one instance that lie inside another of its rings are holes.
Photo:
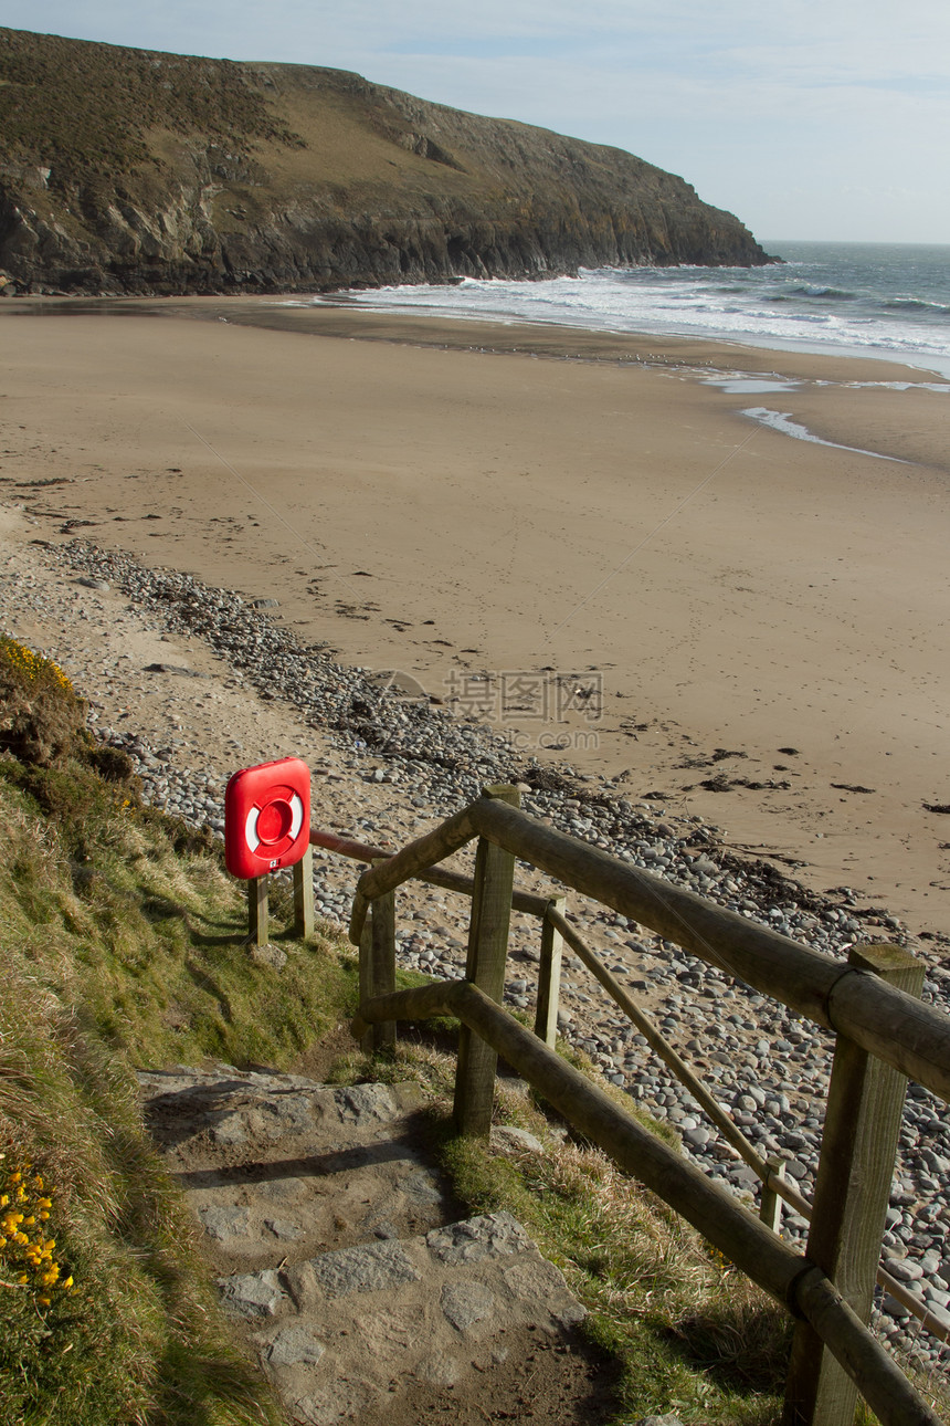
[[[897,945],[852,947],[849,965],[920,995],[924,967]],[[870,1318],[907,1077],[837,1037],[808,1258],[862,1322]],[[857,1387],[799,1322],[785,1389],[783,1426],[852,1426]]]

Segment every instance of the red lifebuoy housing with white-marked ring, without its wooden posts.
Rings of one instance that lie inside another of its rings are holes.
[[[225,863],[249,880],[292,867],[310,838],[310,770],[282,757],[235,773],[225,791]]]

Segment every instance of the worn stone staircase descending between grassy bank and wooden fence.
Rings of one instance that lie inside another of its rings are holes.
[[[229,1065],[140,1075],[226,1310],[305,1426],[593,1426],[611,1370],[584,1309],[508,1214],[459,1221],[413,1085],[336,1088]]]

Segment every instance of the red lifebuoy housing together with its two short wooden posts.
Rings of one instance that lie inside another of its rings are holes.
[[[225,864],[248,883],[249,940],[268,944],[268,876],[293,868],[295,933],[313,930],[310,770],[281,757],[235,773],[225,790]]]

